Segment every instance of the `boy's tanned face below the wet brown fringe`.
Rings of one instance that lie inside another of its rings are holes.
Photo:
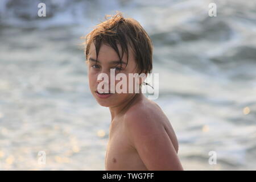
[[[119,44],[117,44],[118,49],[120,54],[122,55],[121,52],[121,47]],[[98,104],[101,106],[105,107],[114,107],[121,105],[123,102],[129,100],[131,97],[133,97],[134,93],[129,93],[128,91],[126,93],[117,93],[115,90],[115,93],[111,94],[110,97],[108,98],[101,98],[98,96],[96,93],[98,89],[98,84],[100,84],[101,81],[108,82],[109,88],[105,88],[105,86],[102,86],[102,90],[110,90],[110,84],[117,85],[119,80],[114,79],[114,83],[110,82],[110,69],[115,69],[115,75],[117,73],[124,73],[127,78],[127,90],[129,86],[129,73],[138,73],[136,69],[136,63],[134,59],[134,55],[131,52],[131,49],[129,47],[129,61],[127,63],[127,55],[126,53],[123,54],[122,61],[125,64],[117,64],[117,63],[112,63],[113,61],[119,61],[119,56],[117,53],[114,51],[114,49],[110,46],[107,46],[106,44],[101,44],[100,51],[98,53],[98,60],[97,64],[95,61],[96,60],[96,49],[94,46],[94,43],[90,46],[90,51],[88,54],[88,60],[86,60],[86,63],[88,63],[88,79],[89,79],[89,87],[90,91],[92,92],[93,96],[96,98]],[[127,64],[127,66],[126,66]],[[120,70],[121,68],[121,70]],[[120,70],[120,71],[119,71]],[[106,73],[108,75],[109,80],[97,80],[97,77],[100,73]],[[135,82],[135,78],[133,80]],[[113,87],[112,87],[113,88]]]

